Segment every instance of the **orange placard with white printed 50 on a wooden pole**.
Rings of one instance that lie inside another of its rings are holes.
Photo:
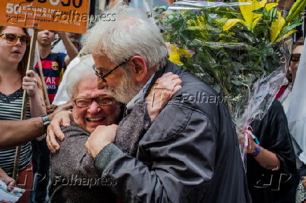
[[[0,25],[86,33],[88,0],[1,0]]]

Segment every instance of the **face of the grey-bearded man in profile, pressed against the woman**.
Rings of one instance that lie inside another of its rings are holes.
[[[118,64],[113,63],[106,55],[93,55],[95,67],[98,73],[105,74],[112,70]],[[124,71],[124,66],[119,66],[118,69],[112,71],[106,78],[106,83],[97,77],[98,89],[107,88],[112,92],[112,96],[118,102],[127,104],[140,91],[142,85],[135,83],[128,71]]]

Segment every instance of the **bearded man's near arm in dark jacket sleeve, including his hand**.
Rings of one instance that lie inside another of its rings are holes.
[[[201,201],[215,170],[218,139],[204,113],[168,104],[139,143],[146,165],[112,144],[113,133],[112,126],[97,127],[86,148],[102,177],[117,181],[109,188],[124,202]]]

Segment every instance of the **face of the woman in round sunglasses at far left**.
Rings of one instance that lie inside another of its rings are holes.
[[[18,36],[24,35],[25,31],[21,27],[5,27],[1,34],[12,33]],[[6,43],[5,36],[0,37],[0,62],[17,65],[23,55],[25,55],[26,45],[20,43],[20,39],[15,44]]]

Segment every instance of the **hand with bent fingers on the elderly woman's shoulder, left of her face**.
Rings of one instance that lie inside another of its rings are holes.
[[[56,153],[60,150],[60,145],[58,144],[55,138],[60,139],[60,141],[63,141],[65,139],[65,135],[62,133],[62,130],[60,130],[60,126],[70,125],[71,114],[71,111],[62,111],[60,113],[57,113],[52,119],[50,125],[48,126],[46,141],[48,148],[52,153]]]

